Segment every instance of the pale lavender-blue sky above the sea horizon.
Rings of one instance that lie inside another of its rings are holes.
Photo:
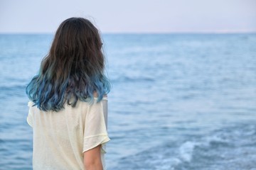
[[[54,33],[73,16],[102,33],[256,32],[256,0],[0,0],[0,33]]]

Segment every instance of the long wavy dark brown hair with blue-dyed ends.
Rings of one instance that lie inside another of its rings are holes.
[[[97,102],[110,92],[104,74],[105,57],[99,31],[85,18],[68,18],[55,33],[38,74],[26,94],[43,111],[60,111],[64,103],[75,107],[78,99]]]

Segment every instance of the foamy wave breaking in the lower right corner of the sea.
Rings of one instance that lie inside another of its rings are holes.
[[[113,169],[252,169],[255,160],[256,123],[167,142],[124,157]]]

